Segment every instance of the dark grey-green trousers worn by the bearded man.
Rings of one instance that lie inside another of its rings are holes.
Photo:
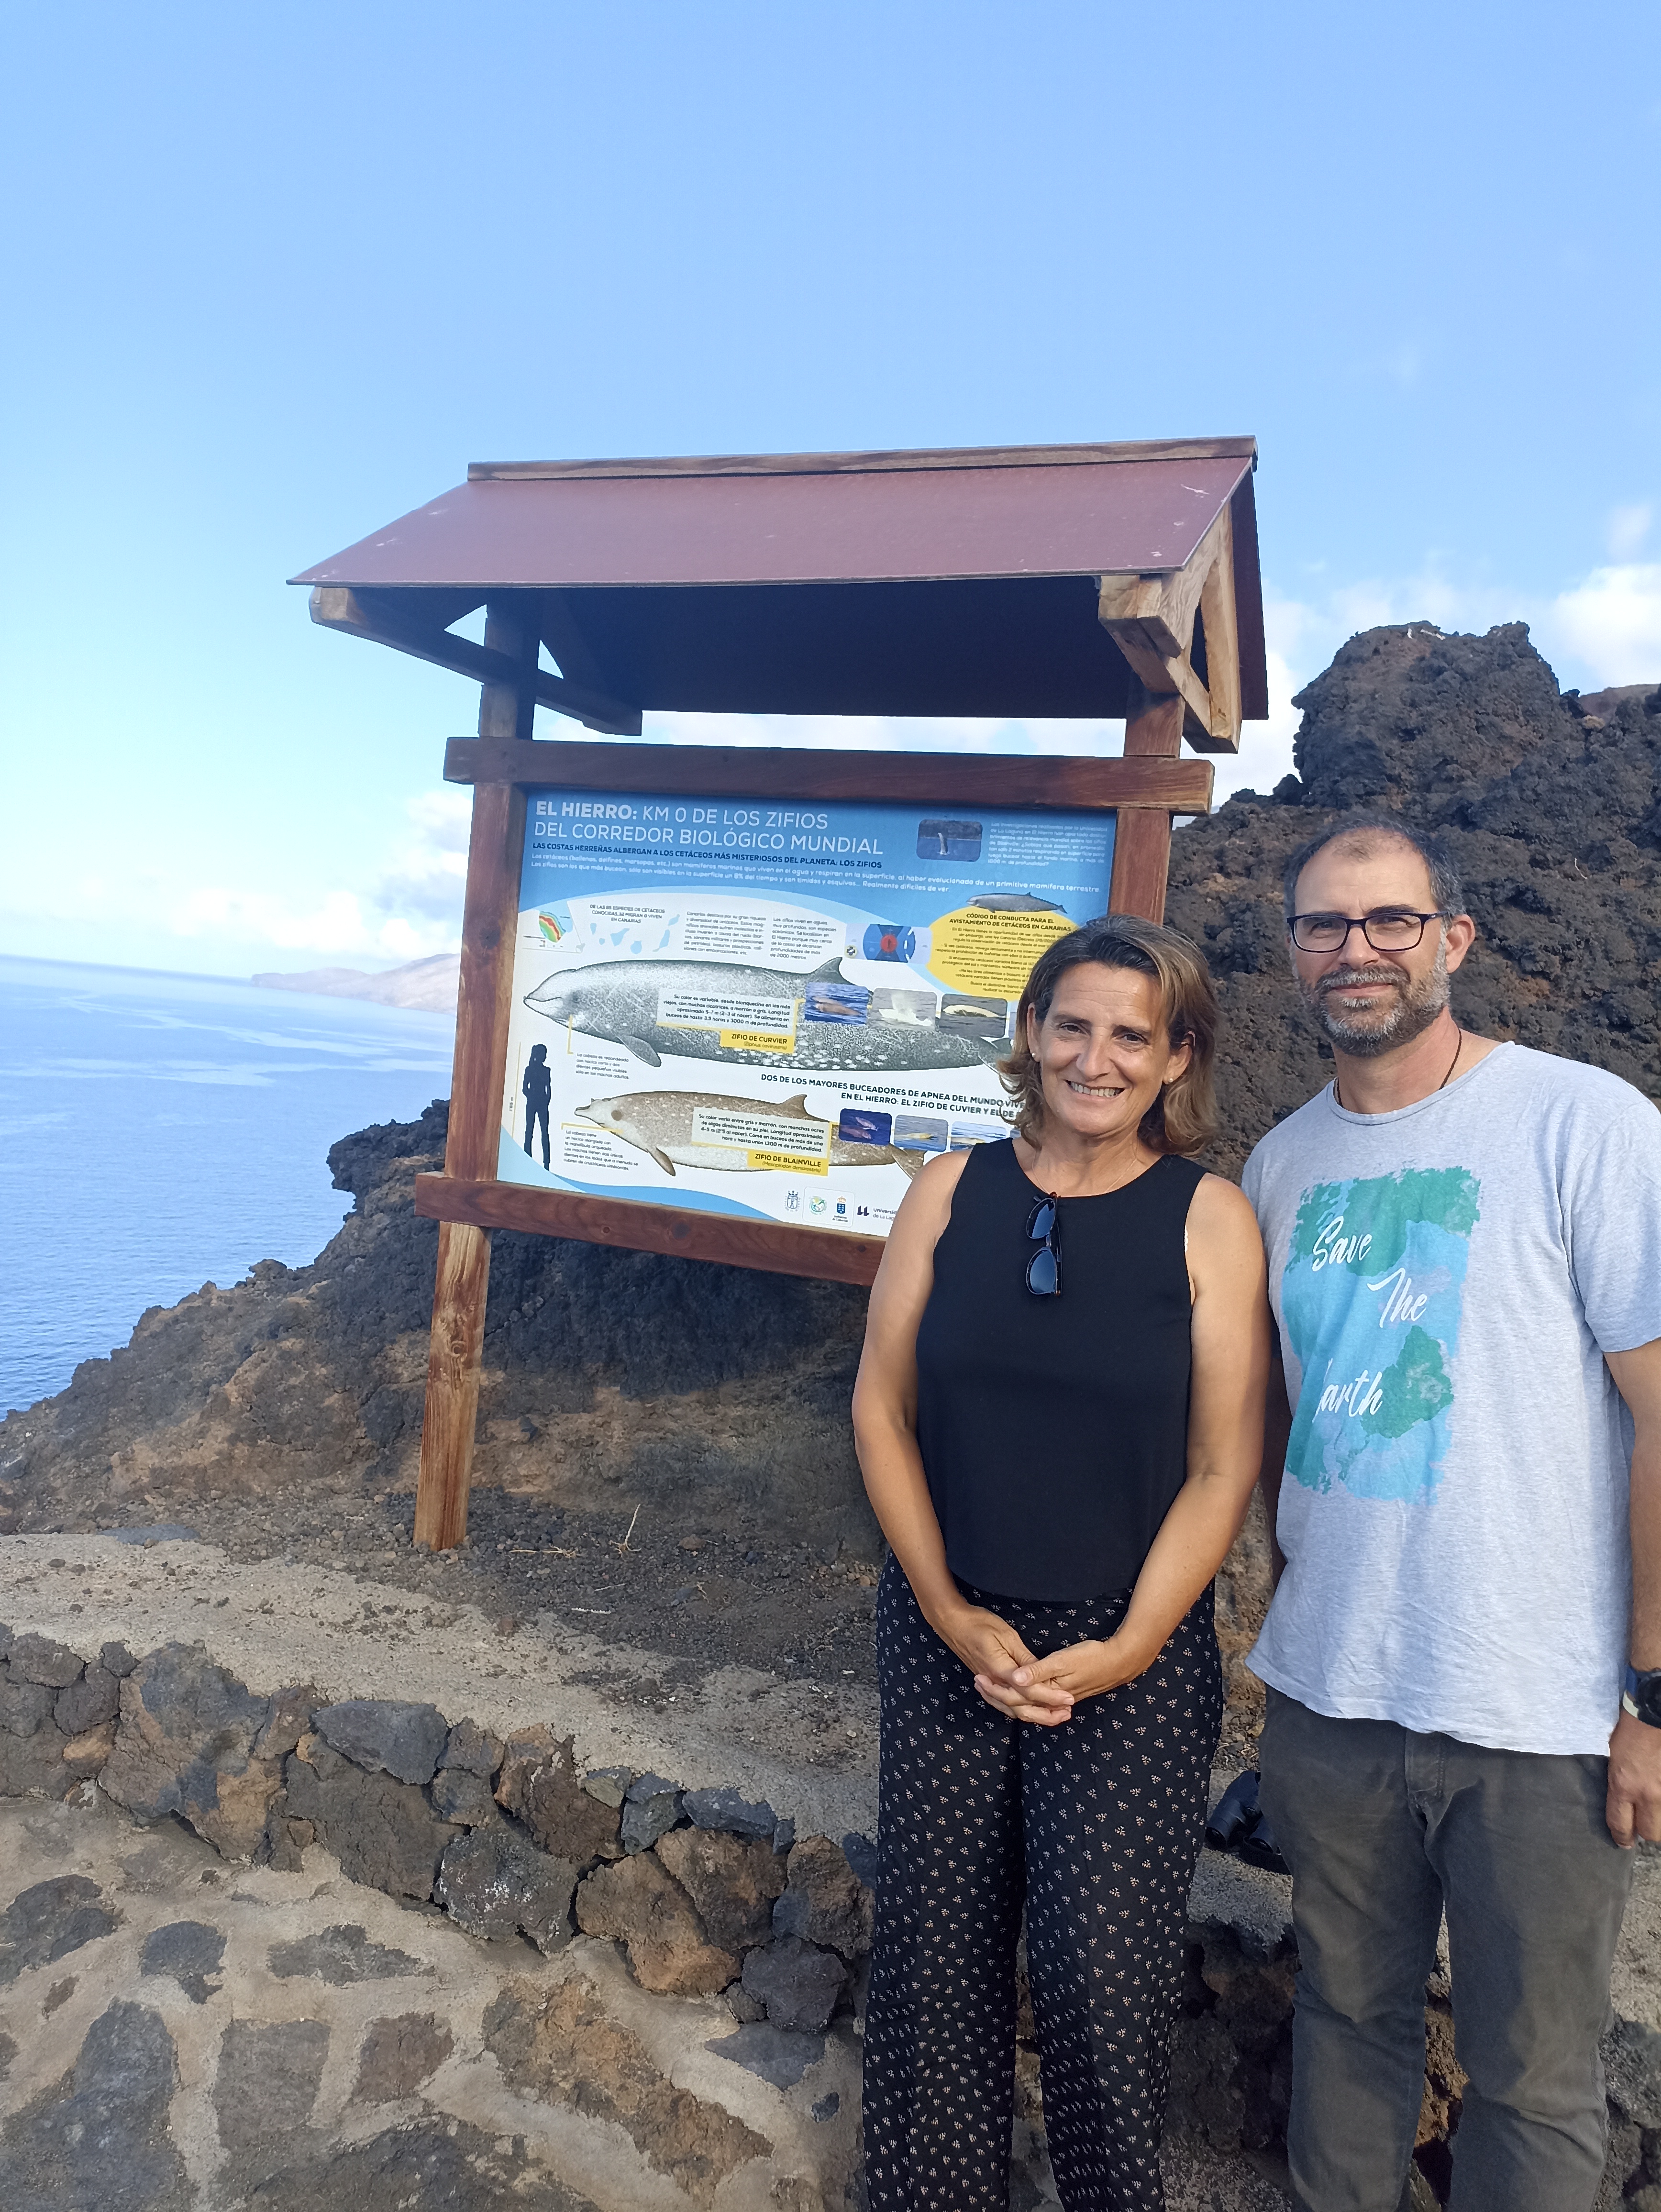
[[[1298,2212],[1398,2212],[1442,1911],[1464,2093],[1449,2212],[1590,2212],[1632,1854],[1608,1761],[1334,1721],[1270,1690],[1263,1807],[1292,1867]]]

